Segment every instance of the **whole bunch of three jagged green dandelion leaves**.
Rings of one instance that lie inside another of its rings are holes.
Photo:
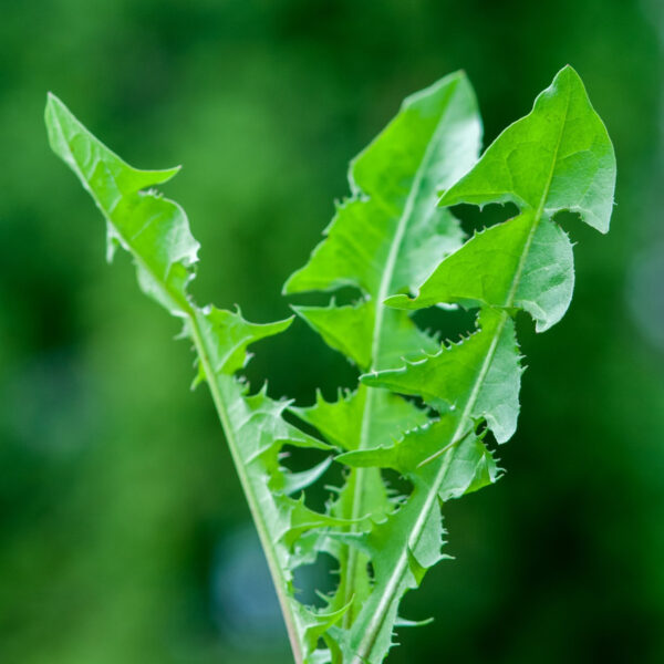
[[[181,320],[194,345],[195,383],[207,383],[219,415],[295,663],[383,662],[408,624],[402,598],[446,558],[445,504],[501,475],[495,452],[517,428],[523,371],[518,312],[543,332],[570,304],[572,243],[557,215],[609,230],[615,158],[579,75],[562,69],[481,155],[470,83],[448,75],[407,97],[352,160],[351,195],[283,287],[295,315],[357,370],[355,390],[332,402],[318,393],[309,406],[241,377],[248,346],[286,332],[292,318],[250,323],[188,292],[198,243],[183,208],[154,189],[178,169],[128,166],[53,95],[46,125],[106,220],[108,258],[117,248],[132,255],[142,290]],[[515,218],[471,237],[450,209],[506,203]],[[334,292],[349,288],[354,301],[338,304]],[[329,304],[298,304],[307,291],[330,293]],[[440,340],[413,318],[430,307],[471,311],[475,322]],[[324,459],[292,473],[282,452],[298,447]],[[332,463],[342,484],[313,510],[304,489],[325,481]],[[395,473],[405,492],[390,486]],[[321,553],[336,561],[336,587],[308,606],[293,573]]]

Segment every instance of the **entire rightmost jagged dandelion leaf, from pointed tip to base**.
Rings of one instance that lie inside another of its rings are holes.
[[[483,438],[490,430],[505,443],[517,426],[522,370],[512,317],[523,309],[542,331],[564,314],[573,288],[572,250],[553,216],[571,210],[605,231],[614,178],[606,132],[578,75],[566,68],[532,113],[506,129],[469,173],[442,184],[443,206],[511,201],[521,211],[443,257],[419,288],[409,284],[414,299],[400,286],[385,301],[401,310],[460,304],[480,312],[467,339],[362,376],[367,386],[422,398],[439,418],[397,440],[338,457],[355,469],[395,469],[413,485],[397,510],[349,540],[370,558],[375,573],[350,629],[332,630],[344,663],[383,661],[401,598],[443,558],[439,504],[498,479]]]

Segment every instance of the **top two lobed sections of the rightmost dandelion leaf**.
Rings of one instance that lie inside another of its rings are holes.
[[[606,232],[614,187],[613,146],[579,75],[567,66],[532,112],[505,129],[440,199],[444,206],[511,201],[521,214],[444,260],[415,299],[395,295],[387,303],[517,308],[532,315],[538,332],[549,329],[567,311],[573,289],[571,243],[552,217],[570,210]]]

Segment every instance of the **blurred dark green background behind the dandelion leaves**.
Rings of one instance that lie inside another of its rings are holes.
[[[566,320],[520,336],[507,477],[450,504],[457,557],[406,599],[394,664],[664,662],[664,15],[660,0],[42,0],[0,21],[0,662],[289,661],[273,591],[177,324],[49,152],[45,92],[167,186],[199,301],[288,313],[346,163],[408,93],[464,68],[486,141],[571,63],[614,141],[608,237]],[[525,323],[525,321],[521,321]],[[303,324],[249,375],[351,384]]]

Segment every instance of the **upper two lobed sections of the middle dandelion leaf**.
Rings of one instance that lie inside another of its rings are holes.
[[[353,197],[342,203],[326,239],[286,282],[286,293],[354,287],[354,308],[298,308],[332,347],[362,369],[386,369],[434,342],[380,303],[417,286],[463,240],[458,221],[437,209],[440,186],[470,168],[479,148],[475,95],[453,74],[408,97],[384,132],[351,164]],[[395,343],[398,336],[400,343]],[[405,344],[403,343],[405,342]]]

